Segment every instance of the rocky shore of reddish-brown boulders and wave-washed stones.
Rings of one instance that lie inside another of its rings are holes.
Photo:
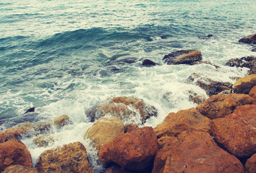
[[[250,35],[240,43],[255,44]],[[199,50],[179,50],[164,56],[168,65],[196,66]],[[143,66],[158,66],[146,61]],[[113,97],[91,107],[86,115],[93,125],[85,134],[98,151],[106,173],[116,172],[256,172],[256,57],[231,59],[226,66],[249,68],[248,76],[234,84],[213,81],[192,73],[187,82],[205,89],[203,95],[189,92],[197,107],[170,112],[155,128],[139,128],[158,116],[153,105],[132,97]],[[137,121],[136,121],[137,122]],[[20,140],[37,136],[36,146],[54,143],[54,129],[69,125],[67,115],[38,123],[21,123],[0,132],[0,172],[95,172],[85,146],[79,141],[40,154],[35,167],[30,151]]]

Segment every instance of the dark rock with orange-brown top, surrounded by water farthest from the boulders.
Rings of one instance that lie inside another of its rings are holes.
[[[202,61],[202,54],[199,50],[177,50],[163,57],[163,62],[171,64],[192,64],[195,61]]]

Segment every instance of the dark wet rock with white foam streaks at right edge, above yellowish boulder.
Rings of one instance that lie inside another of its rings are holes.
[[[226,66],[246,67],[249,68],[249,74],[255,74],[256,57],[247,56],[242,58],[233,58],[226,63]]]

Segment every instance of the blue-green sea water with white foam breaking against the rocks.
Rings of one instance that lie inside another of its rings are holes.
[[[1,0],[0,130],[68,115],[73,124],[56,130],[51,146],[23,140],[33,163],[46,149],[80,141],[101,172],[83,139],[92,125],[86,110],[109,97],[137,97],[158,110],[144,124],[155,127],[168,112],[195,107],[188,91],[205,91],[187,83],[190,74],[231,83],[247,74],[225,64],[255,56],[237,42],[255,33],[255,8],[254,0]],[[220,68],[163,64],[164,55],[187,49]],[[141,66],[145,58],[159,66]],[[30,107],[33,117],[24,115]]]

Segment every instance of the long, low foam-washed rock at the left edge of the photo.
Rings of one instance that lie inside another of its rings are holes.
[[[64,125],[72,123],[67,115],[62,115],[51,120],[41,120],[36,123],[20,123],[12,128],[7,128],[0,132],[0,143],[12,138],[21,139],[22,136],[30,137],[48,133],[53,128],[62,128]]]

